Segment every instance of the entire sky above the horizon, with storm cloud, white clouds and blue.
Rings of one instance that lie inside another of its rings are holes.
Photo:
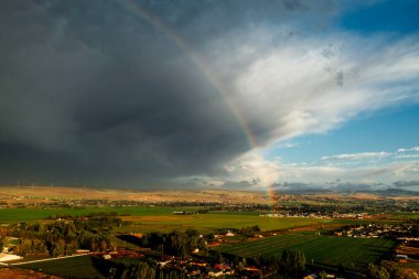
[[[0,184],[419,191],[419,1],[0,2]]]

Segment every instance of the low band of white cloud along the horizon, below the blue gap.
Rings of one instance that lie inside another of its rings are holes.
[[[292,185],[305,184],[342,189],[373,185],[374,189],[388,186],[397,181],[419,181],[417,155],[419,154],[387,151],[361,152],[322,157],[312,162],[283,163],[281,158],[269,161],[254,151],[224,165],[225,172],[222,175],[191,176],[182,180],[187,185],[217,187],[233,185],[241,189],[264,189],[272,184],[287,184],[287,187],[292,190]],[[383,158],[386,160],[377,160]],[[353,161],[358,162],[351,164]]]

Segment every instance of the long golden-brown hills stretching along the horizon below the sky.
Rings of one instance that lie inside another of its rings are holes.
[[[419,193],[402,189],[377,191],[355,190],[337,192],[327,189],[276,189],[276,195],[282,200],[299,200],[299,196],[313,200],[417,200]],[[287,195],[291,195],[288,196]],[[71,186],[0,186],[0,200],[3,204],[28,205],[69,200],[135,201],[140,203],[224,203],[224,204],[270,204],[269,191],[240,191],[223,189],[155,190],[139,189],[99,189]]]

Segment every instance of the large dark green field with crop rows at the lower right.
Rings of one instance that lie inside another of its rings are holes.
[[[238,257],[269,258],[281,256],[284,249],[301,250],[307,262],[320,267],[337,267],[347,269],[365,268],[369,262],[376,262],[394,246],[393,240],[384,238],[350,238],[316,235],[288,234],[268,237],[218,248],[224,254]]]

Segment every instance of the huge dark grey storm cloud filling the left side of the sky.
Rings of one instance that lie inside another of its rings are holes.
[[[142,7],[198,49],[307,3]],[[123,1],[1,1],[0,57],[2,183],[141,185],[211,175],[249,149],[187,53]]]

